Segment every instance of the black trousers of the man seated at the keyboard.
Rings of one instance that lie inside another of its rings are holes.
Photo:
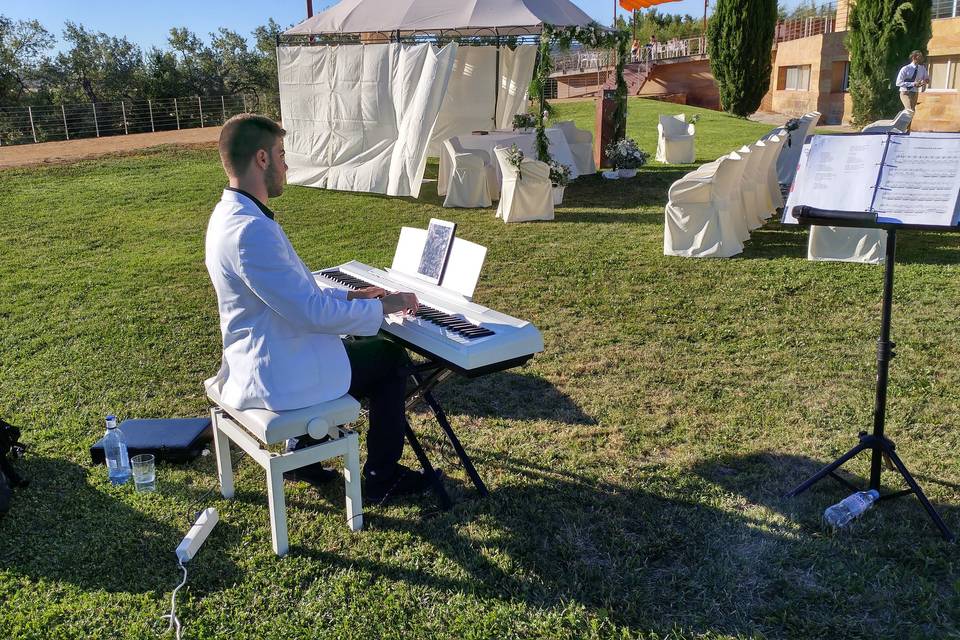
[[[364,473],[393,473],[403,453],[407,426],[405,396],[410,358],[396,342],[375,336],[343,341],[350,358],[350,395],[370,408]]]

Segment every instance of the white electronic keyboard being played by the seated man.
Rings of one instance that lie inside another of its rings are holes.
[[[443,287],[392,269],[351,261],[313,273],[340,289],[377,286],[417,295],[416,316],[386,316],[381,329],[414,351],[444,361],[465,375],[517,366],[543,351],[543,337],[529,322],[474,304]]]

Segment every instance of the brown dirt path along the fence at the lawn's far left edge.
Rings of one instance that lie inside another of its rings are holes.
[[[219,137],[220,127],[204,127],[202,129],[161,131],[159,133],[135,133],[129,136],[21,144],[13,147],[0,147],[0,168],[71,162],[110,153],[136,151],[137,149],[146,149],[162,144],[211,144],[216,143]]]

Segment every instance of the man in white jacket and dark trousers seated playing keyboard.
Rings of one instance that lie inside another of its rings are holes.
[[[206,265],[217,293],[223,359],[207,385],[217,385],[223,401],[238,409],[299,409],[348,391],[366,398],[365,499],[420,493],[430,479],[398,462],[406,351],[386,338],[340,338],[376,336],[384,315],[416,311],[417,298],[317,284],[267,207],[286,181],[285,133],[252,114],[231,118],[220,133],[229,186],[207,226]],[[297,448],[312,444],[304,436]],[[337,475],[319,464],[293,473],[292,479],[314,483]]]

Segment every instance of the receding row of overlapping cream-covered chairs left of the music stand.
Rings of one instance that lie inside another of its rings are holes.
[[[721,156],[671,185],[664,212],[663,253],[728,258],[750,231],[783,206],[777,159],[786,136],[768,135]]]

